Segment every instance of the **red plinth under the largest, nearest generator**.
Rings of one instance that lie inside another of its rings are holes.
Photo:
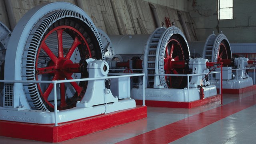
[[[58,126],[0,120],[0,136],[43,142],[62,142],[146,117],[147,107],[136,106],[128,110],[61,123]]]

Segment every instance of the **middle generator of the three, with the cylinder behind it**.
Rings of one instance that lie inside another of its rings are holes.
[[[156,106],[154,103],[158,102],[189,103],[218,95],[216,86],[210,84],[208,79],[209,61],[205,58],[190,58],[188,42],[177,27],[157,28],[148,35],[109,38],[116,54],[108,61],[110,70],[121,68],[124,73],[145,73],[147,106]],[[187,77],[186,74],[195,75]],[[133,82],[131,96],[136,102],[142,100],[142,86],[141,78]]]

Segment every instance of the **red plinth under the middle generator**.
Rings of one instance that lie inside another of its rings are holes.
[[[203,100],[195,100],[192,102],[167,102],[167,101],[156,101],[156,100],[145,100],[146,106],[153,107],[166,107],[166,108],[195,108],[198,106],[202,106],[205,104],[210,104],[212,102],[216,102],[221,100],[221,94],[216,96],[211,96],[209,98],[205,98]],[[142,100],[135,100],[136,104],[142,104]]]

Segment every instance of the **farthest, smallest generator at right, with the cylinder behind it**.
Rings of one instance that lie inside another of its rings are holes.
[[[246,68],[250,64],[255,65],[256,62],[248,58],[232,58],[230,43],[224,34],[210,34],[205,42],[189,42],[189,46],[190,52],[193,52],[195,57],[207,58],[209,62],[223,62],[224,93],[239,94],[253,89],[253,80]],[[210,77],[210,82],[219,88],[220,77],[213,75]]]

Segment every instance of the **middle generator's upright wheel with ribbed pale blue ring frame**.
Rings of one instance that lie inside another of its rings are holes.
[[[182,31],[174,26],[158,28],[150,36],[145,49],[144,70],[148,85],[163,85],[164,88],[184,88],[184,76],[156,76],[154,74],[187,74],[184,68],[171,67],[173,61],[190,59],[187,40]],[[146,67],[146,68],[145,68]]]

